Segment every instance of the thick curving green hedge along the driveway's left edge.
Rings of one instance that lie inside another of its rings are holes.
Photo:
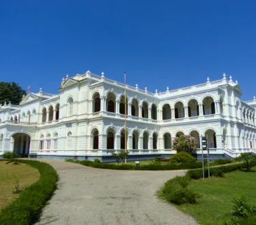
[[[0,211],[1,225],[32,224],[36,222],[42,207],[57,188],[58,175],[50,165],[34,160],[18,160],[18,162],[38,169],[40,179],[25,188],[23,192],[20,192],[16,201]]]

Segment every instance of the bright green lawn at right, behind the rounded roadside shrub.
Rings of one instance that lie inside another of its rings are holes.
[[[256,167],[253,172],[234,171],[223,178],[192,180],[191,189],[199,193],[195,205],[180,205],[178,209],[197,218],[199,224],[223,224],[230,216],[233,197],[246,196],[249,204],[256,206]]]

